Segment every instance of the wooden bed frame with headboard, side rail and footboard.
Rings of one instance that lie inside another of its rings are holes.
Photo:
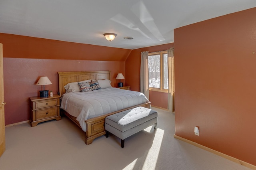
[[[78,82],[88,79],[100,80],[100,79],[109,79],[110,80],[110,71],[73,71],[73,72],[58,72],[59,79],[59,93],[63,95],[66,93],[64,86],[68,83]],[[133,107],[128,107],[126,109],[122,109],[120,111],[115,111],[112,113],[108,113],[106,115],[94,117],[92,119],[86,120],[86,136],[85,143],[91,144],[95,138],[106,134],[105,132],[105,118],[109,115],[113,115],[115,113],[125,111],[128,109],[132,109],[138,106],[150,108],[150,102],[143,103],[141,105],[136,105]],[[76,117],[73,117],[63,109],[61,109],[61,113],[66,115],[69,119],[71,119],[78,127],[80,127],[79,122],[76,120]],[[81,127],[80,127],[81,128]]]

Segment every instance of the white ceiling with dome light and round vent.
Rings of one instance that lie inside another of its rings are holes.
[[[174,42],[174,28],[253,7],[256,0],[0,0],[0,33],[136,49]]]

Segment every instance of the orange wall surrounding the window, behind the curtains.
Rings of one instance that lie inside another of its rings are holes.
[[[142,51],[164,51],[170,49],[170,47],[173,46],[174,43],[168,43],[163,45],[156,45],[132,50],[132,52],[130,53],[129,57],[126,59],[125,62],[126,85],[131,86],[130,89],[133,91],[140,91],[140,53]],[[153,106],[162,107],[164,109],[167,109],[168,107],[168,93],[150,91],[149,100],[151,102],[151,105]]]

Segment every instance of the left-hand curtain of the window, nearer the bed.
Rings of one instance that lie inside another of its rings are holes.
[[[149,99],[148,87],[148,51],[141,52],[140,61],[140,92]]]

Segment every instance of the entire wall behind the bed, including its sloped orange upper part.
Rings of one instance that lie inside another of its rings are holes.
[[[39,95],[43,87],[35,84],[41,76],[47,76],[52,82],[45,89],[57,93],[58,71],[109,70],[111,85],[115,87],[118,73],[121,72],[126,77],[125,59],[131,51],[11,34],[0,34],[0,43],[3,44],[4,55],[6,125],[29,120],[28,97]],[[125,79],[123,82],[125,83]]]

